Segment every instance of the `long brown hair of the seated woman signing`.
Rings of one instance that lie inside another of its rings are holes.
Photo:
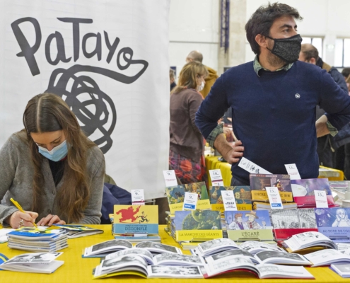
[[[59,212],[68,222],[78,222],[83,218],[83,210],[90,197],[90,176],[86,171],[86,151],[95,144],[81,131],[76,116],[68,105],[51,93],[42,93],[29,100],[24,114],[23,124],[34,164],[32,211],[42,209],[43,156],[30,133],[54,132],[63,130],[68,145],[68,154],[64,161],[63,185],[57,192]]]

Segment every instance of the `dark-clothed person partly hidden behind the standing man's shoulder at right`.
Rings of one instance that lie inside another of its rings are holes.
[[[348,93],[348,88],[342,74],[334,68],[330,67],[329,64],[322,61],[321,57],[318,54],[318,50],[315,46],[305,43],[301,45],[301,52],[299,54],[299,60],[302,62],[307,62],[314,64],[321,69],[327,71],[328,74],[332,76],[334,81],[338,84],[342,90]],[[316,107],[316,120],[319,119],[322,115],[325,114],[325,110],[322,110],[318,105]],[[344,171],[344,149],[338,152],[340,146],[348,144],[350,142],[350,126],[346,125],[341,129],[337,136],[332,137],[331,134],[326,134],[323,137],[317,138],[317,154],[320,165],[327,166],[330,168],[339,167],[339,163],[343,163]]]

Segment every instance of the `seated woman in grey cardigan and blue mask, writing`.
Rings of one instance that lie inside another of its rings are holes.
[[[68,105],[54,94],[34,96],[23,124],[0,150],[0,223],[99,224],[105,158]]]

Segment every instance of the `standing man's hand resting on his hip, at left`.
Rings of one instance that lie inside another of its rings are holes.
[[[238,162],[243,156],[244,146],[242,141],[235,141],[233,146],[228,144],[223,134],[219,134],[214,141],[214,147],[220,152],[225,160],[232,164]]]

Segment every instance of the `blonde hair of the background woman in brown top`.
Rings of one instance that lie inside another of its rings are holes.
[[[197,88],[197,77],[198,76],[208,76],[208,70],[204,66],[204,64],[193,61],[185,64],[185,66],[180,71],[179,81],[177,86],[173,89],[171,94],[180,93],[185,88]]]

